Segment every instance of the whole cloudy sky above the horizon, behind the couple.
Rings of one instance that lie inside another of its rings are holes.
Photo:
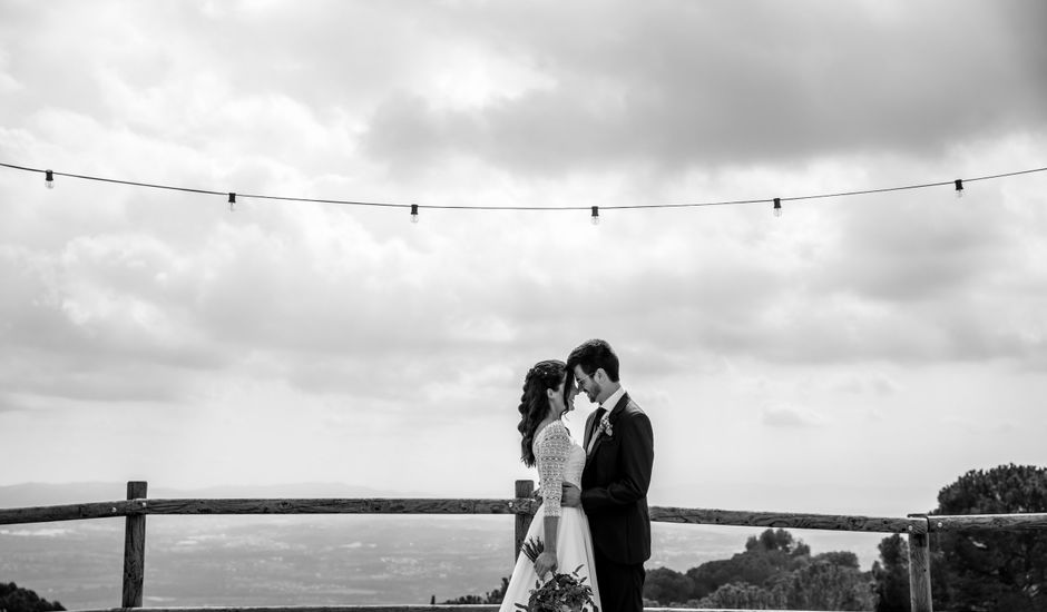
[[[902,516],[1047,464],[1047,172],[951,186],[1047,166],[1045,23],[7,0],[0,162],[422,209],[0,168],[0,484],[505,497],[537,477],[525,372],[590,337],[654,423],[656,505]]]

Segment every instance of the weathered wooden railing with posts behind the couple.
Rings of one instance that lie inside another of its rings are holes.
[[[207,499],[163,500],[147,496],[147,483],[127,483],[127,500],[55,506],[0,509],[0,525],[79,521],[125,516],[124,589],[120,606],[141,608],[145,578],[146,516],[149,514],[515,514],[513,550],[519,554],[524,536],[538,507],[534,481],[517,481],[508,500],[456,499]],[[1047,529],[1047,514],[981,514],[941,516],[910,514],[904,519],[832,514],[748,512],[654,506],[650,520],[663,523],[750,527],[900,533],[909,537],[909,586],[912,612],[931,612],[928,534],[949,531],[1027,531]],[[360,605],[295,606],[295,612],[422,612],[464,608],[492,612],[495,605]],[[115,612],[119,609],[110,609]],[[249,612],[272,608],[148,608],[149,612]],[[663,610],[663,609],[648,609]],[[87,611],[85,611],[87,612]],[[96,611],[90,611],[96,612]]]

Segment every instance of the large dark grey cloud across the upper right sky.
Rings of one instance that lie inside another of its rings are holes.
[[[590,8],[574,11],[584,21]],[[940,155],[1047,120],[1045,79],[1025,55],[1043,55],[1043,42],[1012,37],[984,6],[969,3],[956,19],[941,19],[956,14],[946,3],[907,9],[904,19],[824,3],[620,9],[601,14],[607,33],[584,41],[556,36],[555,26],[542,33],[549,23],[537,12],[492,16],[473,36],[496,56],[532,49],[528,63],[550,85],[470,109],[410,91],[378,107],[365,149],[401,172],[448,154],[537,175],[626,164],[679,171]]]

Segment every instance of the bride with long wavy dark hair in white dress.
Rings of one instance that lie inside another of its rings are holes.
[[[580,507],[560,506],[562,484],[581,485],[585,451],[575,443],[561,417],[574,409],[578,388],[568,376],[564,362],[539,362],[524,378],[520,398],[520,424],[524,436],[520,450],[525,465],[538,467],[542,503],[535,513],[525,542],[540,540],[544,551],[534,563],[525,554],[517,559],[506,596],[499,612],[519,612],[516,604],[527,605],[535,583],[551,578],[551,572],[586,576],[593,588],[593,601],[600,606],[596,571],[593,566],[593,537],[589,520]]]

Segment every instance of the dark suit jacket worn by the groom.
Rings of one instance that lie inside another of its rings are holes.
[[[589,446],[596,412],[586,421]],[[650,419],[625,394],[609,413],[611,435],[601,434],[581,473],[581,506],[589,517],[593,544],[617,563],[650,557],[647,487],[654,464]]]

